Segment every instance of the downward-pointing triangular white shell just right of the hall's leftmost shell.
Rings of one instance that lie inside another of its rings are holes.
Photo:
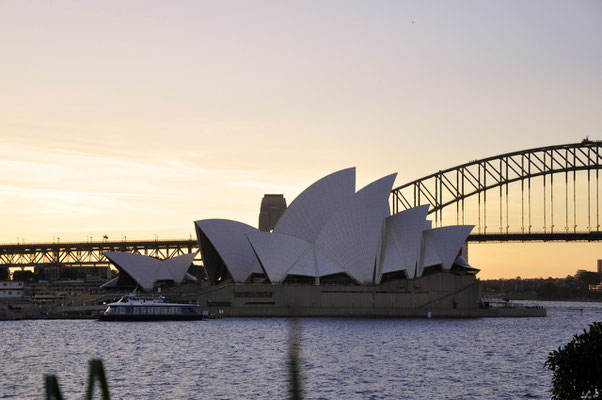
[[[247,234],[255,254],[272,283],[282,282],[312,245],[290,235],[256,231]]]

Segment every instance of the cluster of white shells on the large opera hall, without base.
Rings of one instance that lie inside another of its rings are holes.
[[[373,286],[419,279],[430,269],[472,270],[458,257],[473,226],[432,229],[428,206],[391,215],[395,177],[356,192],[355,168],[332,173],[304,190],[272,232],[231,220],[196,221],[209,282]]]

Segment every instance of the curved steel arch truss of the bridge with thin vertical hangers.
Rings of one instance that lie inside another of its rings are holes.
[[[577,172],[587,171],[587,232],[597,232],[600,229],[598,182],[599,170],[602,168],[601,147],[602,141],[584,139],[581,143],[538,147],[470,161],[394,188],[391,192],[392,212],[398,213],[421,204],[429,204],[429,214],[434,216],[435,226],[440,226],[443,209],[455,204],[456,223],[463,224],[465,200],[477,196],[478,233],[487,233],[487,193],[498,188],[499,234],[508,234],[508,187],[511,183],[520,182],[521,234],[531,234],[532,180],[541,177],[543,203],[539,204],[543,204],[543,232],[554,233],[554,176],[564,174],[564,231],[576,234]],[[595,193],[592,193],[592,179],[595,179]],[[569,193],[571,183],[572,193]],[[572,207],[569,207],[571,200]],[[595,203],[595,207],[592,207],[592,203]],[[570,212],[572,212],[572,226],[569,226]],[[505,224],[503,216],[505,216]],[[592,227],[594,217],[595,227]],[[528,220],[525,221],[525,218]],[[480,229],[482,222],[485,227],[483,232]]]

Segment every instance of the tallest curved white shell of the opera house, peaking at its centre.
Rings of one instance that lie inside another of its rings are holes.
[[[305,189],[284,211],[274,232],[315,243],[334,212],[355,194],[355,168],[334,172]]]

